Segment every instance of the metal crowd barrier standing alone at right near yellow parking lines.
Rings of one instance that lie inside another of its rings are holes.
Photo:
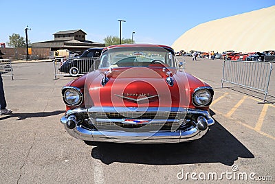
[[[271,73],[272,64],[270,62],[225,60],[221,87],[223,87],[223,82],[228,82],[263,91],[265,93],[263,102],[265,102]]]

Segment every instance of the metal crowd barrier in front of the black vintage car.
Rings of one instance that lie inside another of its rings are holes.
[[[57,76],[81,76],[89,71],[98,69],[100,58],[64,58],[53,59],[54,77]]]

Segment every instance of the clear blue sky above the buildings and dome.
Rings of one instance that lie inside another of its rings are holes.
[[[123,19],[122,37],[131,38],[135,32],[136,42],[172,45],[200,23],[275,5],[275,0],[0,1],[4,43],[13,33],[25,38],[27,25],[32,43],[53,40],[52,34],[61,30],[78,29],[87,33],[87,40],[103,43],[106,36],[120,35],[118,19]]]

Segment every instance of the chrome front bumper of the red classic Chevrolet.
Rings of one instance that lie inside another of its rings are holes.
[[[72,115],[79,115],[85,113],[102,113],[102,112],[129,112],[129,111],[144,111],[142,108],[111,108],[111,107],[92,107],[89,109],[77,108],[69,110],[61,118],[61,123],[64,124],[65,129],[76,139],[85,141],[104,141],[104,142],[126,142],[126,143],[179,143],[184,141],[192,141],[201,138],[208,131],[199,130],[197,126],[188,126],[188,128],[177,128],[177,130],[158,130],[148,132],[133,132],[126,130],[97,130],[96,128],[87,128],[82,124],[77,124],[75,128],[67,127],[67,120]],[[148,111],[172,111],[184,112],[188,115],[203,115],[206,117],[208,126],[214,124],[214,119],[210,117],[208,111],[201,111],[196,109],[186,108],[146,108]],[[123,122],[124,119],[93,119],[94,122]],[[163,123],[164,121],[172,121],[170,119],[155,119],[152,124]],[[173,122],[178,123],[180,119],[173,119]]]

